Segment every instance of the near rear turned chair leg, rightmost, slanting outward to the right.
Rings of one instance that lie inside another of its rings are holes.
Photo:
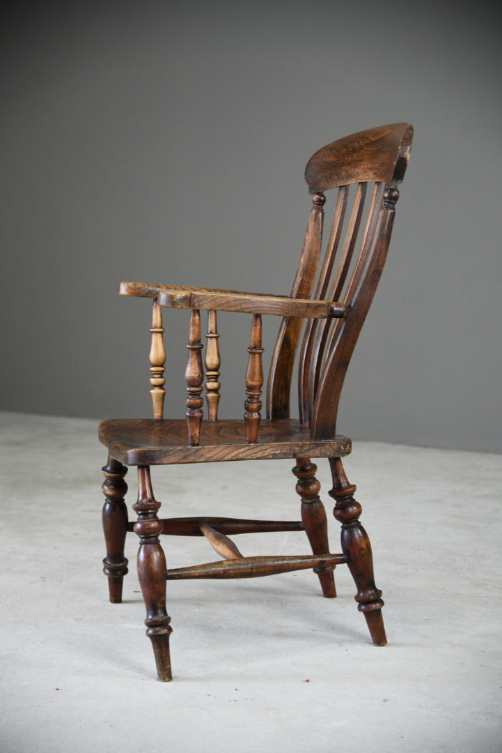
[[[355,486],[347,480],[340,458],[331,458],[329,464],[333,476],[333,489],[329,494],[337,502],[333,514],[342,524],[342,550],[357,587],[355,601],[358,602],[358,610],[366,617],[373,643],[385,646],[382,591],[376,588],[374,581],[370,539],[359,523],[362,508],[353,497]]]

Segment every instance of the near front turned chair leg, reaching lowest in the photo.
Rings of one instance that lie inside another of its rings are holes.
[[[162,522],[157,517],[160,502],[153,496],[150,468],[138,467],[138,501],[133,508],[138,513],[135,533],[140,537],[138,551],[138,578],[147,607],[147,636],[152,641],[159,680],[172,680],[169,636],[172,633],[171,617],[165,609],[167,570],[159,534]]]

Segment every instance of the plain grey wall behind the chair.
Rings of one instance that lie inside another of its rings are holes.
[[[149,416],[150,305],[119,298],[119,279],[288,294],[310,154],[409,120],[389,263],[339,428],[502,452],[500,12],[488,7],[13,5],[2,410]],[[165,325],[167,413],[181,416],[186,312]],[[242,411],[248,325],[221,320],[223,416]]]

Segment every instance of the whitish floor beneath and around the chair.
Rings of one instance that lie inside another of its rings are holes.
[[[125,601],[107,602],[96,422],[4,413],[0,428],[2,753],[502,750],[501,456],[355,443],[346,471],[386,601],[386,648],[370,644],[344,566],[334,601],[311,572],[177,581],[174,681],[160,683],[134,534]],[[160,468],[154,490],[165,515],[291,520],[292,465]],[[319,461],[331,507],[327,471]],[[132,503],[134,469],[127,480]],[[333,551],[337,529],[332,520]],[[162,543],[171,566],[215,559],[200,539]],[[239,544],[308,553],[301,533]]]

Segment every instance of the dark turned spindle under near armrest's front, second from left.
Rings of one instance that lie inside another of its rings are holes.
[[[186,363],[185,380],[186,392],[186,426],[188,429],[189,445],[198,445],[201,434],[202,406],[204,398],[201,398],[202,385],[204,383],[204,369],[202,367],[202,343],[201,343],[201,312],[192,309],[190,314],[189,357]]]

